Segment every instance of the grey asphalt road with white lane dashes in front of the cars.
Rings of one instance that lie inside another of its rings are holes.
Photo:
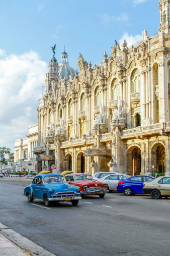
[[[31,241],[64,256],[167,256],[170,197],[108,193],[45,207],[28,202],[27,179],[0,179],[0,222]]]

